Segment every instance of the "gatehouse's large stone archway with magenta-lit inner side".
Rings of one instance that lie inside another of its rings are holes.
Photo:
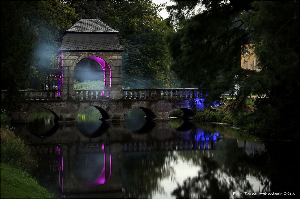
[[[113,65],[113,62],[105,56],[102,53],[96,53],[96,52],[89,52],[89,53],[83,53],[82,55],[79,55],[72,63],[70,67],[70,71],[74,71],[77,63],[82,59],[93,59],[101,66],[101,68],[104,71],[104,87],[105,88],[111,88],[112,86],[112,71],[115,70],[115,67]],[[74,74],[70,73],[71,79],[74,78]]]

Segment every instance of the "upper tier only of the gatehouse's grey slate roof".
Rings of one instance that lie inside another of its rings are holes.
[[[117,33],[118,31],[101,22],[99,19],[79,19],[79,21],[66,30],[66,32]]]

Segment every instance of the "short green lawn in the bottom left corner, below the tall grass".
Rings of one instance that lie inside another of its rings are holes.
[[[1,198],[52,198],[51,194],[29,176],[8,164],[0,164]]]

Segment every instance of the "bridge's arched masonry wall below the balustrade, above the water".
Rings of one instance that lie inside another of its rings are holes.
[[[191,107],[192,100],[182,101],[156,100],[156,99],[131,99],[131,100],[32,100],[19,102],[17,106],[10,106],[9,101],[1,102],[1,109],[6,109],[14,122],[26,122],[27,117],[35,110],[45,108],[50,110],[59,122],[76,122],[76,117],[84,108],[95,106],[103,109],[109,120],[122,121],[134,108],[144,108],[153,113],[156,118],[167,118],[178,108]],[[147,113],[146,113],[147,114]],[[103,115],[103,114],[102,114]]]

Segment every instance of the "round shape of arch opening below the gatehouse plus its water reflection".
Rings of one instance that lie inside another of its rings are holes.
[[[77,129],[86,137],[101,136],[110,127],[109,123],[101,121],[107,113],[100,107],[88,106],[77,115]]]

